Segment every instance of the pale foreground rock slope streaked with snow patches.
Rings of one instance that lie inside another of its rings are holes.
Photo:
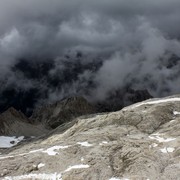
[[[0,178],[178,180],[180,96],[77,117],[2,151]]]

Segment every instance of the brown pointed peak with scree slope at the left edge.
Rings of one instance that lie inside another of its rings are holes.
[[[33,125],[21,112],[10,108],[0,114],[0,136],[39,136],[47,133],[42,125]]]

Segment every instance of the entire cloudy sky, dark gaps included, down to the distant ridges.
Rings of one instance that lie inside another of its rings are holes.
[[[1,0],[0,110],[180,92],[178,0]]]

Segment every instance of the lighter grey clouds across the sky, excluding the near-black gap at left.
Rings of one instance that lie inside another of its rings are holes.
[[[178,93],[179,60],[167,66],[180,57],[179,17],[179,0],[1,0],[1,78],[19,58],[81,51],[83,63],[103,58],[98,72],[80,75],[98,85],[95,98],[128,83],[154,96]]]

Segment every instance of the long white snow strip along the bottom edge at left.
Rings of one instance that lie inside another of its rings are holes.
[[[4,180],[24,180],[24,179],[43,179],[43,180],[62,180],[61,174],[28,174],[22,176],[8,176]]]

